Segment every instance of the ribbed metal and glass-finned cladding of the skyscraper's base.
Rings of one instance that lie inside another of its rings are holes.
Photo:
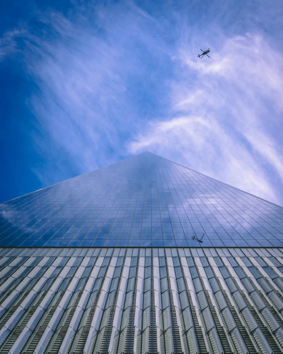
[[[283,249],[0,249],[0,353],[283,352]]]

